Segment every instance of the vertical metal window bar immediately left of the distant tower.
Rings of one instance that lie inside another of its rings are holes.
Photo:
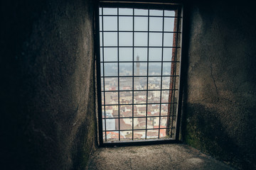
[[[134,8],[132,8],[132,140],[134,140]]]

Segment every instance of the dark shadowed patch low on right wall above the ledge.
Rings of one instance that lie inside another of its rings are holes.
[[[185,109],[187,115],[183,115],[183,120],[186,120],[186,123],[183,124],[182,130],[185,135],[184,141],[188,145],[201,149],[225,163],[233,164],[239,169],[256,168],[255,155],[248,157],[238,145],[235,145],[235,141],[225,132],[225,128],[216,116],[217,112],[198,103],[188,103]]]

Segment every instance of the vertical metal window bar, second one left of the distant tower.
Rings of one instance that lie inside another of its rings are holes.
[[[120,88],[119,88],[119,8],[117,8],[117,75],[118,75],[118,140],[120,140]]]

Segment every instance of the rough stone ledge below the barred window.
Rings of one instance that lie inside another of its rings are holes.
[[[87,169],[233,169],[182,144],[97,149]]]

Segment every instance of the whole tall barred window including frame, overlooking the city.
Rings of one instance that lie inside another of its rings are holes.
[[[101,145],[177,140],[181,10],[181,4],[100,1]]]

